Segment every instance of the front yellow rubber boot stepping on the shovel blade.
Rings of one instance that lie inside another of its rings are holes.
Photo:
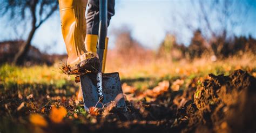
[[[62,35],[69,56],[67,65],[70,67],[74,67],[87,59],[98,57],[96,53],[87,52],[84,45],[86,5],[87,0],[59,0]],[[71,74],[76,74],[76,72]]]

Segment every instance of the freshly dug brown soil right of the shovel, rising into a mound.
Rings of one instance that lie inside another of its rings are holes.
[[[169,89],[153,102],[126,101],[129,111],[113,108],[95,131],[255,132],[256,79],[242,70],[209,76],[197,88]]]

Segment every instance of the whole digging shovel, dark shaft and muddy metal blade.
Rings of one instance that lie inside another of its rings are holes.
[[[119,73],[103,73],[102,61],[105,49],[105,38],[107,34],[107,0],[99,1],[99,32],[97,43],[97,54],[100,60],[100,68],[97,74],[86,73],[80,76],[82,86],[84,107],[103,107],[105,104],[115,101],[118,107],[125,107],[122,84]]]

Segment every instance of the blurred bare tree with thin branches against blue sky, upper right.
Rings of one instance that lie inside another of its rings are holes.
[[[200,29],[204,31],[213,54],[220,57],[227,56],[228,44],[226,41],[228,38],[234,37],[234,29],[246,20],[250,2],[200,0],[198,6],[200,16],[198,21],[202,26]]]

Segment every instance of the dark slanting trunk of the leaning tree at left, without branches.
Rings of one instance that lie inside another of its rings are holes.
[[[31,46],[31,40],[33,38],[33,35],[35,34],[35,31],[36,31],[36,26],[33,26],[29,33],[28,39],[26,39],[26,41],[22,43],[22,46],[19,49],[18,53],[15,55],[14,61],[12,62],[12,64],[21,65],[23,63],[25,56],[28,53],[29,48]]]

